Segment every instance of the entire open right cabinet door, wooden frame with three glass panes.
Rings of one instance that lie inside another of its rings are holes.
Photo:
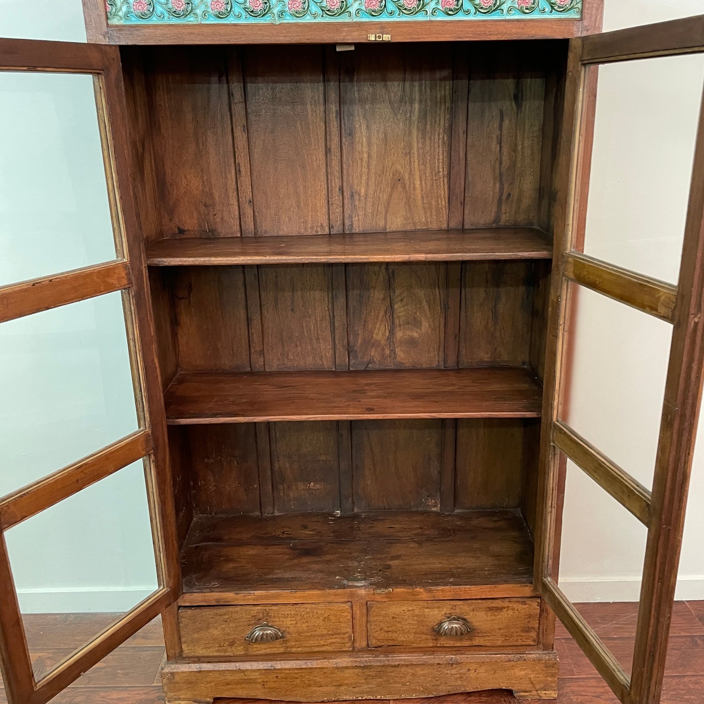
[[[702,37],[704,15],[593,34],[567,66],[536,588],[623,704],[660,700],[702,393]],[[580,497],[598,515],[575,516]],[[631,653],[560,585],[560,545],[584,532],[583,562],[628,556],[612,567],[640,598]]]

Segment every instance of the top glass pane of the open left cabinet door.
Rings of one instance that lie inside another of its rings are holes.
[[[93,76],[0,73],[0,285],[115,259]]]

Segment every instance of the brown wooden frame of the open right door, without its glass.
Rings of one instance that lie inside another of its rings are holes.
[[[677,287],[582,253],[598,65],[704,52],[704,15],[572,39],[558,157],[553,280],[539,470],[536,590],[540,640],[553,647],[555,614],[623,704],[657,704],[677,582],[691,461],[704,381],[704,99]],[[673,325],[652,491],[560,422],[570,334],[568,287],[581,284]],[[648,527],[633,677],[558,586],[562,501],[570,458]],[[546,608],[549,607],[549,608]]]

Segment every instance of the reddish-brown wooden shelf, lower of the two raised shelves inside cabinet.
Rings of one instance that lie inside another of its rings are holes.
[[[364,418],[525,418],[542,389],[522,367],[345,372],[181,372],[170,425]]]

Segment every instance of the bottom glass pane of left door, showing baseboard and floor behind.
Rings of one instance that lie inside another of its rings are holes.
[[[158,588],[142,460],[5,538],[37,680]]]

